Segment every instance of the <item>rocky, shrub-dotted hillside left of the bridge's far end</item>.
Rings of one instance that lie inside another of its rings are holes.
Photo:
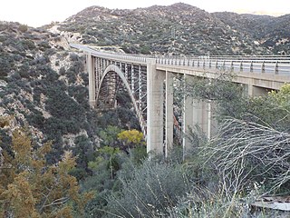
[[[90,109],[84,58],[71,50],[63,35],[0,22],[0,114],[11,117],[10,127],[0,129],[0,150],[9,150],[11,131],[23,126],[35,145],[53,141],[48,159],[55,163],[66,148],[92,154],[106,124],[126,124],[121,112]]]

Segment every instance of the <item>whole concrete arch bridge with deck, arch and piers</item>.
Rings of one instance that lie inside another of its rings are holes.
[[[217,78],[220,70],[236,74],[249,95],[279,90],[290,83],[290,56],[145,56],[100,52],[71,44],[86,54],[89,101],[93,108],[111,108],[121,84],[126,87],[147,141],[147,151],[166,156],[173,142],[173,79],[181,74]],[[183,102],[182,132],[198,124],[210,137],[214,132],[212,105],[187,97]],[[189,142],[184,138],[183,146]]]

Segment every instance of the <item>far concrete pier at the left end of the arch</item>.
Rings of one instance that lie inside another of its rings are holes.
[[[96,104],[95,58],[91,54],[87,54],[86,57],[89,74],[89,104],[94,108]]]

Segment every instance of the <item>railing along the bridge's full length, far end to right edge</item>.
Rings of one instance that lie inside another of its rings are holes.
[[[101,52],[88,45],[71,44],[72,47],[94,56],[128,63],[146,64],[148,58],[157,64],[190,66],[203,70],[222,70],[232,73],[290,75],[290,56],[286,55],[199,55],[166,56],[143,54],[117,54]]]

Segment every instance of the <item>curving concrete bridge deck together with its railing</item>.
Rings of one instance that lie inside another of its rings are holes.
[[[86,45],[71,46],[92,56],[120,63],[146,65],[148,59],[155,59],[157,70],[176,74],[215,78],[218,73],[227,72],[237,75],[234,79],[237,83],[268,89],[279,89],[290,83],[290,56],[285,55],[153,56],[100,52]]]

